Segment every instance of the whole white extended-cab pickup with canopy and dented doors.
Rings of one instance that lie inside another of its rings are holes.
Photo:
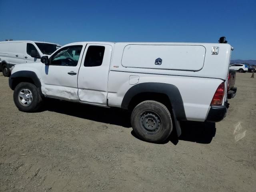
[[[44,98],[129,109],[137,136],[162,142],[174,129],[180,136],[180,121],[225,117],[231,50],[225,40],[76,42],[15,66],[9,85],[21,111]]]

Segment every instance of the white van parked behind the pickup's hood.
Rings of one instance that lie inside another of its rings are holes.
[[[16,64],[38,62],[45,55],[51,55],[60,48],[59,44],[38,41],[0,42],[0,70],[10,76],[10,69]]]

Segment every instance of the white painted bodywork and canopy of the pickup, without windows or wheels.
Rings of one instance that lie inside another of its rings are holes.
[[[78,44],[82,44],[83,49],[77,66],[22,64],[14,67],[12,73],[19,70],[34,71],[41,81],[44,95],[98,106],[121,107],[124,95],[134,84],[144,82],[172,84],[180,91],[186,118],[195,121],[205,120],[216,89],[228,76],[231,54],[229,44],[154,43],[155,45],[152,45],[152,43],[130,42],[77,42],[66,46]],[[131,44],[141,46],[126,50]],[[89,45],[105,46],[101,66],[84,66]],[[142,48],[143,46],[146,48]],[[212,46],[219,46],[218,55],[211,54]],[[123,56],[124,50],[125,56]],[[155,59],[159,57],[162,57],[163,68],[151,68],[150,65],[154,66]],[[144,68],[136,68],[137,65]],[[167,67],[167,70],[164,69]],[[174,68],[176,70],[172,70]],[[68,75],[70,71],[76,72],[77,75]]]

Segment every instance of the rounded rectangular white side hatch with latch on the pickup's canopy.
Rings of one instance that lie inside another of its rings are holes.
[[[200,45],[127,45],[122,66],[198,71],[204,65],[205,51]],[[157,58],[162,59],[161,65],[155,64]]]

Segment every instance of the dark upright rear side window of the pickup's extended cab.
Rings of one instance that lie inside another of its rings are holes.
[[[94,45],[89,46],[86,52],[84,66],[86,67],[101,66],[103,61],[104,51],[105,51],[104,46],[94,46]]]

